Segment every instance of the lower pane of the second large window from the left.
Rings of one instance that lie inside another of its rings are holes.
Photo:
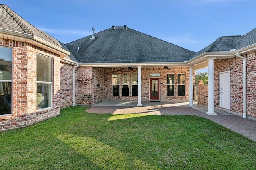
[[[36,84],[36,106],[37,109],[51,107],[51,84],[37,83]]]

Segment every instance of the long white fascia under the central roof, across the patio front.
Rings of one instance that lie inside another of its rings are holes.
[[[128,66],[188,66],[187,62],[161,62],[161,63],[84,63],[85,67],[128,67]]]

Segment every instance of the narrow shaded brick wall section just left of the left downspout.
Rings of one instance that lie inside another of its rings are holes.
[[[73,105],[73,67],[60,63],[60,108]]]

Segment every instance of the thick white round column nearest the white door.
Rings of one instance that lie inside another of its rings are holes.
[[[206,112],[208,115],[217,115],[214,112],[214,59],[208,59],[208,111]]]

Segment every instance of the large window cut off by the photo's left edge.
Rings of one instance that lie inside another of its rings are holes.
[[[0,47],[0,115],[12,114],[12,49]]]

